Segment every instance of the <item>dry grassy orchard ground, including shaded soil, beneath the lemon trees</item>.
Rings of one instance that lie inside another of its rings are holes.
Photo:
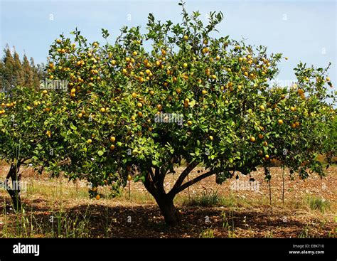
[[[0,168],[4,179],[8,166]],[[166,191],[182,170],[178,167],[176,176],[167,177]],[[198,170],[203,171],[196,169],[189,179],[198,175]],[[271,168],[271,173],[272,204],[262,169],[251,175],[259,183],[259,191],[233,190],[230,187],[235,179],[218,185],[210,177],[178,194],[175,203],[183,212],[183,222],[167,228],[141,183],[131,183],[131,198],[128,188],[121,197],[109,198],[109,188],[100,187],[102,199],[97,201],[89,198],[83,181],[76,185],[25,169],[24,213],[14,213],[6,191],[0,190],[0,237],[336,237],[336,166],[328,169],[323,179],[313,174],[306,181],[291,181],[285,171],[284,203],[282,169]],[[239,181],[249,179],[239,174]]]

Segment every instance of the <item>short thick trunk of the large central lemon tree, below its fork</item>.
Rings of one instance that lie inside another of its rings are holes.
[[[176,211],[176,207],[173,204],[173,198],[169,198],[166,195],[156,196],[156,203],[158,204],[161,214],[164,216],[166,225],[177,225],[181,220],[181,216]]]

